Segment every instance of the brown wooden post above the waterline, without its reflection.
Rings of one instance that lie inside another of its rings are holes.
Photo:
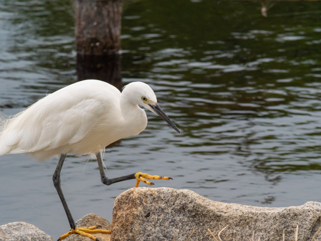
[[[121,0],[76,0],[77,53],[82,55],[118,54],[121,15]]]

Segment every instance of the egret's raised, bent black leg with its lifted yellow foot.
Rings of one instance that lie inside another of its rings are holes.
[[[164,177],[164,176],[158,176],[158,175],[151,176],[147,173],[141,173],[141,172],[133,173],[133,174],[130,174],[127,176],[121,176],[121,177],[108,179],[105,175],[104,168],[102,166],[101,154],[97,153],[96,157],[97,157],[97,162],[98,162],[98,166],[99,166],[101,182],[104,183],[105,185],[110,185],[113,183],[118,183],[121,181],[130,180],[130,179],[136,179],[137,181],[136,181],[135,187],[138,187],[138,184],[140,181],[142,181],[143,183],[146,183],[147,185],[152,186],[152,185],[154,185],[154,183],[148,182],[144,178],[153,179],[153,180],[160,180],[160,179],[164,179],[164,180],[172,179],[173,180],[173,178],[171,178],[171,177]]]

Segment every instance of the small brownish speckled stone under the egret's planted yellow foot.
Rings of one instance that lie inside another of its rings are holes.
[[[83,216],[81,219],[79,219],[76,222],[76,226],[79,228],[82,227],[91,227],[91,226],[102,226],[100,229],[104,230],[110,230],[111,225],[107,221],[107,219],[104,219],[94,213],[87,214]],[[69,230],[69,229],[68,229]],[[66,232],[68,231],[66,230]],[[63,234],[62,234],[63,235]],[[110,234],[104,234],[104,233],[93,233],[93,236],[98,238],[100,241],[110,241]],[[93,239],[89,237],[84,237],[79,234],[72,234],[64,239],[64,241],[93,241]]]

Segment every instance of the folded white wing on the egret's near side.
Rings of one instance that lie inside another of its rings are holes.
[[[83,100],[60,110],[36,113],[37,105],[29,108],[16,122],[25,123],[7,132],[10,153],[50,150],[81,141],[100,120],[101,103],[94,99]],[[33,109],[33,110],[31,110]],[[32,118],[37,115],[38,118]]]

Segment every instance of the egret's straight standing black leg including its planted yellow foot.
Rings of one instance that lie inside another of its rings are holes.
[[[61,203],[65,209],[65,212],[67,214],[67,218],[68,218],[68,221],[70,224],[70,231],[68,233],[62,235],[58,240],[63,240],[65,237],[68,237],[71,234],[77,233],[82,236],[90,237],[95,241],[99,241],[98,238],[94,237],[93,235],[91,235],[89,233],[108,233],[108,234],[110,234],[110,231],[102,230],[102,229],[95,229],[95,228],[97,228],[97,226],[92,226],[89,228],[87,228],[87,227],[86,228],[77,228],[75,225],[75,221],[73,219],[73,216],[71,215],[71,212],[68,208],[67,202],[65,200],[64,194],[62,193],[62,189],[60,186],[60,171],[61,171],[62,165],[64,164],[65,157],[66,157],[66,154],[61,154],[58,165],[55,170],[55,173],[52,176],[52,180],[54,181],[54,186],[58,192],[58,195],[59,195]],[[95,229],[95,230],[93,230],[93,229]]]

